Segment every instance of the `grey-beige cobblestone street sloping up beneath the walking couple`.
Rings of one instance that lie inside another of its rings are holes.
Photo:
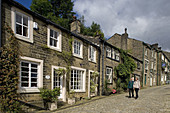
[[[170,85],[142,89],[137,100],[127,96],[109,96],[55,113],[170,113]]]

